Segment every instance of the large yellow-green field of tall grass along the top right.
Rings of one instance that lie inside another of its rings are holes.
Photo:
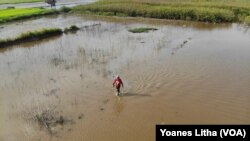
[[[73,12],[108,16],[149,17],[201,22],[243,22],[249,0],[100,0]]]

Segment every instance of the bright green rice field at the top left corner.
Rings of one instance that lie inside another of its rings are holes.
[[[0,24],[13,20],[59,13],[60,10],[41,8],[0,9]]]

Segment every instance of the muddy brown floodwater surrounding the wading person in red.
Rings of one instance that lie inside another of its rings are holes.
[[[248,27],[61,15],[1,25],[0,37],[72,24],[0,50],[0,140],[152,141],[155,124],[250,123]]]

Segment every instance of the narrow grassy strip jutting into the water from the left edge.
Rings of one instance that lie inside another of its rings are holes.
[[[63,31],[60,28],[41,29],[37,31],[26,32],[26,33],[22,33],[16,38],[0,39],[0,48],[20,44],[23,42],[41,40],[44,38],[61,35],[61,34],[63,34]]]

